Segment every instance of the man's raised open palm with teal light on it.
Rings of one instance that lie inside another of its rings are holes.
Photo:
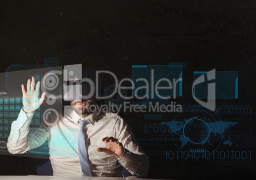
[[[23,103],[23,110],[26,113],[32,113],[34,112],[39,106],[43,103],[43,100],[45,100],[45,93],[40,96],[40,82],[36,84],[34,82],[34,77],[32,76],[31,79],[27,80],[27,91],[25,91],[25,87],[22,84],[22,103]]]

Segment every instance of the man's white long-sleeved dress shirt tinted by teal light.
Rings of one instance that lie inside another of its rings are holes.
[[[77,136],[78,120],[81,117],[70,108],[63,118],[53,122],[50,127],[29,128],[34,113],[20,111],[17,120],[11,124],[8,138],[8,151],[13,154],[25,153],[48,141],[53,176],[82,176],[80,167]],[[117,162],[132,175],[145,177],[148,174],[148,158],[134,138],[131,127],[115,113],[106,113],[103,119],[95,121],[92,115],[86,119],[85,139],[92,176],[122,176]],[[101,141],[105,137],[117,138],[125,148],[122,158],[96,151],[106,147]]]

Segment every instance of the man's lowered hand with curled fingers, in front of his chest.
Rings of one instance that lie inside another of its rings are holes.
[[[108,144],[106,148],[97,148],[99,152],[106,152],[110,155],[115,155],[119,158],[123,157],[125,154],[125,149],[122,143],[119,143],[116,138],[106,137],[101,139],[101,141]]]

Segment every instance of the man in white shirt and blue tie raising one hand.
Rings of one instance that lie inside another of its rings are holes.
[[[83,71],[83,77],[95,80],[95,71],[94,75],[87,72],[90,70]],[[81,84],[82,94],[87,94],[89,84]],[[11,124],[7,146],[10,153],[25,153],[48,141],[53,176],[122,177],[119,167],[124,167],[132,176],[148,174],[148,158],[125,120],[115,113],[91,108],[97,105],[96,93],[86,100],[71,101],[64,116],[31,133],[29,124],[34,111],[45,99],[45,93],[40,97],[39,88],[40,82],[35,85],[34,77],[27,80],[27,91],[22,84],[23,107]]]

